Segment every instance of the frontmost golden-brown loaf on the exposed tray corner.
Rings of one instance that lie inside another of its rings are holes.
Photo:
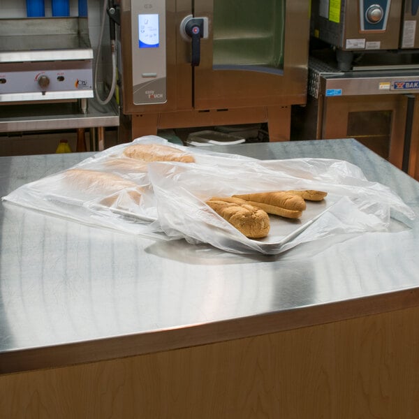
[[[245,200],[211,198],[206,203],[246,237],[260,239],[269,233],[270,221],[267,213],[249,205]]]

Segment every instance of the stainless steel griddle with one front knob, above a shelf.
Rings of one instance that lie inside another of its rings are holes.
[[[3,19],[0,105],[92,98],[87,18]]]

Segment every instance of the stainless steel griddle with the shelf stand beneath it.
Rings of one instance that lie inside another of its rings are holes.
[[[119,107],[94,98],[87,18],[2,19],[0,26],[0,133],[90,128],[102,149],[105,127],[119,126]]]

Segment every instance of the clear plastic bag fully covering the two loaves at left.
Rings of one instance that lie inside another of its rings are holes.
[[[232,161],[255,160],[235,154],[190,149],[171,144],[156,135],[147,135],[105,149],[67,170],[25,184],[3,197],[3,200],[93,226],[170,240],[170,237],[162,233],[157,219],[153,188],[147,172],[149,163],[124,156],[124,149],[136,144],[168,145],[192,154],[197,164],[202,166],[230,166]],[[71,170],[108,173],[131,182],[132,186],[108,193],[98,191],[94,185],[86,189],[75,188],[68,182]],[[141,195],[140,202],[132,198],[136,192]]]

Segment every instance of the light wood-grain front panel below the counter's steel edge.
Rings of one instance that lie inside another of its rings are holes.
[[[3,418],[416,419],[419,307],[0,376]]]

